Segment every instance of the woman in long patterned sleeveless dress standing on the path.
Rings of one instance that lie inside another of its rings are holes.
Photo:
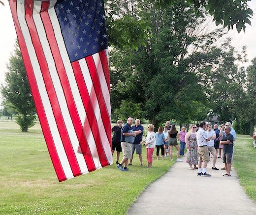
[[[191,125],[190,131],[185,135],[185,142],[187,146],[187,163],[190,165],[190,169],[198,169],[198,154],[197,154],[197,141],[196,141],[196,126]],[[192,167],[192,165],[194,167]]]

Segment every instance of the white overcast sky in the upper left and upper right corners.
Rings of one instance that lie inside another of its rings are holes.
[[[4,82],[6,63],[13,51],[16,40],[16,32],[8,1],[4,0],[4,3],[5,6],[0,4],[0,84]],[[256,13],[256,0],[249,2],[249,5]],[[232,45],[237,49],[237,51],[241,50],[242,46],[247,46],[249,63],[254,57],[256,57],[256,16],[251,21],[252,26],[247,26],[246,33],[241,31],[238,34],[236,29],[228,32],[228,36],[233,39]],[[248,66],[248,64],[245,66]]]

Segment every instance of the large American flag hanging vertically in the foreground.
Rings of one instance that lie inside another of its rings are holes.
[[[112,164],[103,0],[9,0],[59,181]]]

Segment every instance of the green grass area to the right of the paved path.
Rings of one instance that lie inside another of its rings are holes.
[[[240,184],[246,193],[256,201],[256,149],[253,137],[238,135],[235,145],[234,167]]]

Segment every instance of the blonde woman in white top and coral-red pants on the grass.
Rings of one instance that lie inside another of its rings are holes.
[[[147,160],[148,160],[148,167],[152,167],[152,162],[153,162],[153,153],[154,153],[154,148],[156,146],[156,138],[155,138],[155,132],[154,132],[154,125],[149,124],[148,125],[148,134],[146,139],[144,140],[145,146],[147,148]],[[142,142],[144,142],[142,141]]]

